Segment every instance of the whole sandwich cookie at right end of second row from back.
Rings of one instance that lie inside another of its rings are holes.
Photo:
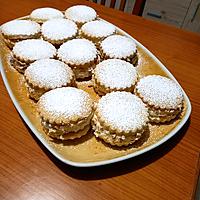
[[[81,27],[81,36],[92,40],[96,44],[104,38],[114,34],[116,28],[114,25],[103,20],[95,20],[85,23]]]

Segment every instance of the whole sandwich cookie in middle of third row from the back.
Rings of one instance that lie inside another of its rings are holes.
[[[73,69],[77,79],[90,77],[98,61],[97,49],[87,39],[73,39],[65,42],[58,49],[57,56]]]

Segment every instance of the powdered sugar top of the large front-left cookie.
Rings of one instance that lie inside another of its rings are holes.
[[[88,93],[73,87],[63,87],[46,92],[38,102],[42,112],[50,114],[53,119],[86,117],[92,110]],[[42,115],[43,113],[41,113]]]

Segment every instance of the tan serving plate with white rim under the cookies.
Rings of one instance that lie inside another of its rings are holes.
[[[159,74],[177,82],[167,68],[148,49],[123,30],[116,28],[119,34],[126,35],[136,42],[139,54],[137,68],[141,77],[149,74]],[[13,104],[33,134],[63,163],[76,167],[92,167],[133,158],[165,143],[181,129],[190,116],[191,103],[183,91],[184,109],[181,115],[167,124],[150,125],[149,133],[144,135],[137,143],[128,147],[119,148],[107,145],[96,139],[92,130],[80,139],[65,142],[52,140],[42,129],[36,112],[36,104],[27,96],[23,75],[18,73],[11,65],[10,50],[6,47],[2,38],[0,41],[1,75]],[[87,91],[97,101],[99,96],[94,92],[91,84],[91,81],[79,82],[78,87]],[[177,82],[177,84],[179,83]]]

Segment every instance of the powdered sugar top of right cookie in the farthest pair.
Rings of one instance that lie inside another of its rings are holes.
[[[85,5],[77,5],[68,8],[65,16],[74,22],[85,23],[94,20],[97,17],[96,11]]]

